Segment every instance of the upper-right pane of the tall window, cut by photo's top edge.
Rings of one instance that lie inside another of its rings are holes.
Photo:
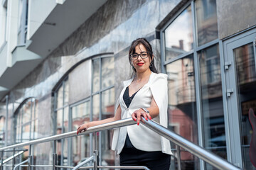
[[[196,1],[196,21],[199,46],[218,38],[215,0]]]

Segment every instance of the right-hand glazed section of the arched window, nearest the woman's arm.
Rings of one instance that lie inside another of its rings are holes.
[[[92,119],[111,118],[114,116],[114,57],[92,60],[92,70]],[[114,165],[112,135],[112,130],[99,133],[102,165]]]

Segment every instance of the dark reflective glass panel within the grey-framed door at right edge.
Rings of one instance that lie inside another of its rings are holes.
[[[244,169],[255,169],[250,162],[249,148],[252,139],[252,125],[248,117],[249,109],[256,113],[256,72],[253,44],[235,48],[235,67],[238,84],[238,97],[240,101],[240,131],[242,144],[242,159]]]

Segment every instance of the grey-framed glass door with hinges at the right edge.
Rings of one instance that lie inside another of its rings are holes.
[[[256,169],[250,161],[250,145],[256,141],[251,142],[248,114],[250,108],[256,111],[255,38],[256,30],[250,30],[223,42],[229,160],[242,169]]]

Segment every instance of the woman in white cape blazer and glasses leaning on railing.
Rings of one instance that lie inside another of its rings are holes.
[[[95,125],[132,117],[137,125],[114,130],[112,149],[117,150],[120,165],[169,170],[169,140],[139,125],[144,117],[167,127],[167,75],[157,74],[152,47],[145,38],[132,42],[129,62],[134,76],[124,81],[114,117],[80,125],[77,133]]]

